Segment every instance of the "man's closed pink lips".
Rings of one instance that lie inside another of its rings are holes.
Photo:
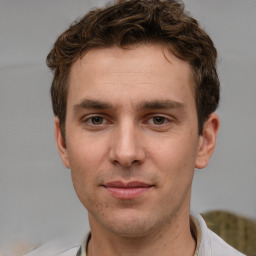
[[[140,181],[127,183],[122,181],[112,181],[104,184],[103,187],[115,198],[131,200],[142,196],[151,190],[154,185]]]

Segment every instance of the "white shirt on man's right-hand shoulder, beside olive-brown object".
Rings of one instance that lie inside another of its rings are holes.
[[[200,224],[202,232],[198,256],[245,256],[208,229],[204,219],[200,215],[196,215],[195,217]]]

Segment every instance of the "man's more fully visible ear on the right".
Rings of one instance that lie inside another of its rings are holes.
[[[203,133],[199,138],[196,168],[202,169],[207,166],[215,149],[219,125],[220,121],[216,113],[212,113],[204,123]]]

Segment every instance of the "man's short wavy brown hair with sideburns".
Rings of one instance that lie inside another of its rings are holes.
[[[198,22],[175,0],[123,0],[90,11],[62,33],[47,56],[53,71],[54,115],[65,137],[67,81],[72,64],[92,48],[162,43],[190,63],[195,87],[199,134],[219,103],[217,51]]]

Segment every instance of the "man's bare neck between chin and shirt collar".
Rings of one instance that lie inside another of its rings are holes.
[[[142,237],[125,237],[93,227],[91,225],[88,256],[192,256],[196,248],[190,230],[189,214],[172,218],[161,229],[152,230]]]

